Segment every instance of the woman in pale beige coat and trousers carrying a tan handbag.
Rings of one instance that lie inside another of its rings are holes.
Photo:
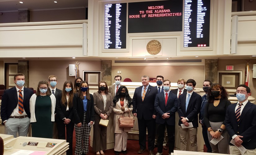
[[[126,146],[127,146],[127,137],[128,132],[131,131],[131,128],[119,128],[118,118],[120,116],[128,116],[129,112],[133,110],[132,108],[132,99],[129,96],[128,90],[125,86],[120,86],[118,89],[116,96],[113,100],[114,108],[113,112],[114,116],[114,126],[115,126],[115,155],[119,155],[120,152],[123,154],[127,154]]]

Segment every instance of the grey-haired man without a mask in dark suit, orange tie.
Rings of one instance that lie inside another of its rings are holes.
[[[149,155],[154,155],[155,141],[155,117],[154,108],[157,89],[149,85],[148,76],[141,77],[142,86],[137,87],[132,98],[132,114],[137,117],[139,125],[139,145],[138,153],[143,153],[146,149],[146,129],[148,131]]]

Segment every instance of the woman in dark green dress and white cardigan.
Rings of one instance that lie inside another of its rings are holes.
[[[39,81],[36,94],[30,98],[32,137],[52,138],[55,103],[48,82]]]

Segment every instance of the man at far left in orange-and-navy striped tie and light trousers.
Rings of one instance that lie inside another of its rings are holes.
[[[4,91],[1,105],[2,124],[5,134],[27,136],[30,124],[29,100],[33,91],[24,88],[25,75],[18,73],[14,76],[15,87]]]

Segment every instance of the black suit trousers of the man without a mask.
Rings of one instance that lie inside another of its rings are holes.
[[[139,125],[139,145],[141,149],[146,149],[146,129],[148,130],[148,150],[154,150],[155,143],[155,119],[138,119]],[[162,144],[163,145],[163,144]]]

